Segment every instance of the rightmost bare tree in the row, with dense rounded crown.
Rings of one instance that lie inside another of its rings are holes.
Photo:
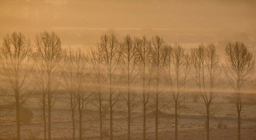
[[[241,114],[242,109],[246,107],[242,95],[252,82],[255,58],[243,42],[229,42],[225,48],[225,55],[226,60],[223,68],[228,85],[235,91],[237,115],[234,116],[238,119],[237,139],[240,140],[241,118],[248,116],[248,114]]]

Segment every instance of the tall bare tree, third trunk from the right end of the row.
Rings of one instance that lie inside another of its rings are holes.
[[[179,108],[180,103],[185,100],[184,86],[188,81],[188,74],[190,72],[190,56],[184,53],[184,48],[175,43],[173,47],[169,46],[167,49],[166,61],[166,78],[170,85],[175,109],[175,140],[178,139],[178,114],[184,111],[184,108]]]

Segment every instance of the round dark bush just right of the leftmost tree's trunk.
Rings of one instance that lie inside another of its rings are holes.
[[[21,107],[19,111],[20,121],[23,124],[29,124],[33,119],[33,112],[26,107]]]

